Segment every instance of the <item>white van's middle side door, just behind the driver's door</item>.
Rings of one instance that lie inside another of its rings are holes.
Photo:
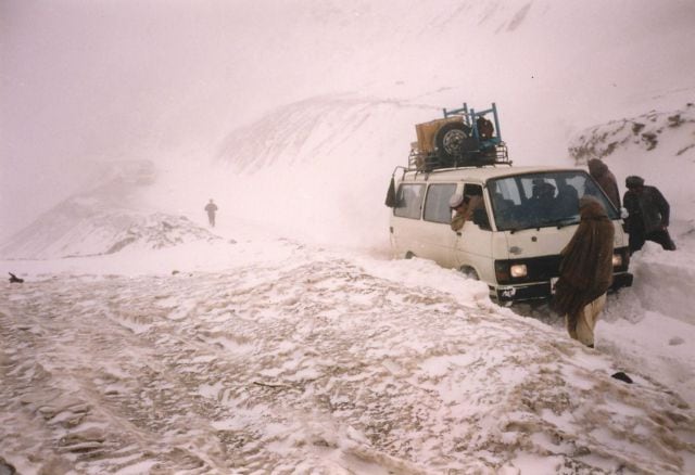
[[[432,183],[427,188],[422,210],[422,229],[429,258],[442,267],[455,268],[456,233],[452,231],[452,209],[448,201],[456,193],[456,183]]]

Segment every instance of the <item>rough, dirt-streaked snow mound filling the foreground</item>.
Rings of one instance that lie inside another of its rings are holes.
[[[214,271],[1,284],[0,455],[21,473],[695,468],[679,394],[611,378],[619,359],[479,282],[282,240],[228,247]]]

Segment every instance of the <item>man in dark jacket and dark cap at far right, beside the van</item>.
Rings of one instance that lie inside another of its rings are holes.
[[[675,251],[668,230],[671,208],[661,192],[645,185],[644,179],[635,176],[626,179],[626,187],[628,191],[622,203],[630,215],[626,219],[630,254],[640,251],[645,241],[659,243],[666,251]]]

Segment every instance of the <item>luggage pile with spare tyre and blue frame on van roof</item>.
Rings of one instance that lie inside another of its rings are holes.
[[[443,110],[444,117],[417,124],[417,142],[410,144],[408,169],[431,171],[439,168],[510,165],[502,141],[497,107],[484,111]],[[492,116],[492,120],[485,116]],[[494,124],[493,124],[494,121]]]

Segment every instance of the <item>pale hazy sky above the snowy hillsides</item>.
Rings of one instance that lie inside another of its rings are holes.
[[[98,163],[207,164],[237,127],[321,94],[496,101],[527,162],[565,157],[617,110],[693,95],[692,1],[418,4],[0,2],[0,239]]]

